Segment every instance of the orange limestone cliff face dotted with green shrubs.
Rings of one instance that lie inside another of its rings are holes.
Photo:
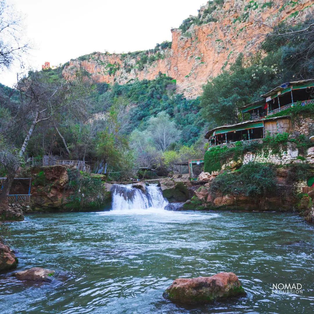
[[[154,79],[161,72],[176,79],[177,93],[194,98],[201,94],[202,85],[227,69],[239,53],[248,57],[257,51],[260,35],[271,30],[266,24],[312,17],[313,0],[211,2],[201,7],[198,17],[190,16],[193,24],[188,24],[184,33],[171,30],[171,48],[138,54],[94,52],[71,60],[63,75],[71,78],[81,68],[97,82],[125,84],[133,79]]]

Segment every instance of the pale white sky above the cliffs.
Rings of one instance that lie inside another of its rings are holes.
[[[93,51],[127,52],[171,41],[177,28],[206,0],[7,0],[24,18],[33,49],[26,68],[65,63]],[[0,72],[0,83],[12,86],[19,67]]]

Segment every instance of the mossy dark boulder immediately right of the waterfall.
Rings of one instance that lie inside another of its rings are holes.
[[[161,180],[160,187],[164,198],[169,202],[185,202],[190,198],[186,182],[165,178]]]

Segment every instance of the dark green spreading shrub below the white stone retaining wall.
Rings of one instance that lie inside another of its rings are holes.
[[[238,171],[224,172],[214,178],[210,193],[245,195],[251,197],[271,195],[276,187],[276,171],[271,165],[250,162]]]

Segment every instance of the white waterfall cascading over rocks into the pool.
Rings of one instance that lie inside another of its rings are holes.
[[[164,210],[168,201],[163,197],[157,184],[146,186],[145,192],[132,187],[132,184],[114,184],[112,193],[112,209],[115,211],[146,211],[149,208]]]

